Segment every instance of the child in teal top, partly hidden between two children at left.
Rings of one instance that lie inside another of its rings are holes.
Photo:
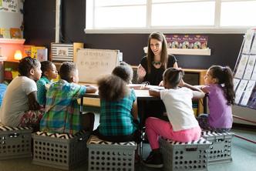
[[[37,86],[37,100],[40,105],[45,106],[46,102],[46,89],[45,85],[51,83],[52,79],[57,79],[58,72],[56,65],[50,61],[41,62],[42,76],[36,82]]]

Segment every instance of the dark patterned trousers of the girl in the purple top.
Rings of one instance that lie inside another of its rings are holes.
[[[229,132],[231,130],[230,128],[214,128],[210,126],[208,122],[208,114],[200,114],[200,116],[197,117],[197,121],[201,129],[216,131],[216,132]]]

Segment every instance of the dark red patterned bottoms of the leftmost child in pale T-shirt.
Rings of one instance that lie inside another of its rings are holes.
[[[33,131],[39,130],[39,123],[42,119],[44,109],[39,110],[28,110],[22,113],[22,118],[20,119],[19,126],[31,126]]]

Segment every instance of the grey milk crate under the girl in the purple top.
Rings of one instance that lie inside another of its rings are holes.
[[[202,136],[211,142],[211,146],[207,149],[207,157],[209,164],[227,163],[232,161],[231,147],[233,132],[213,132],[203,131]]]

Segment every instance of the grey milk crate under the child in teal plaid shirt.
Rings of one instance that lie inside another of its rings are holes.
[[[88,170],[134,170],[136,142],[107,142],[90,136]]]

